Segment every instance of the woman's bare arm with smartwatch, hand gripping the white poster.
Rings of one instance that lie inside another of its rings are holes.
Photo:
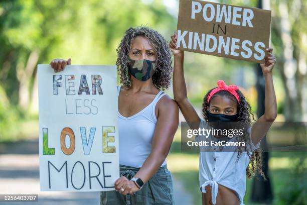
[[[158,119],[152,138],[151,152],[142,167],[134,175],[144,183],[158,171],[168,156],[179,124],[178,105],[173,99],[168,96],[162,97],[156,108],[158,109]],[[120,190],[121,187],[124,188],[122,194],[134,193],[138,190],[134,182],[129,181],[126,177],[120,177],[115,181],[115,189]]]

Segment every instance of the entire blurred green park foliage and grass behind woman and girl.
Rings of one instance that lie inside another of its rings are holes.
[[[249,7],[259,3],[216,2]],[[307,1],[267,0],[262,4],[272,11],[277,121],[307,121]],[[54,58],[72,58],[72,64],[115,64],[115,49],[129,27],[154,28],[169,41],[177,28],[178,6],[178,0],[1,1],[0,142],[38,138],[37,64],[49,64]],[[239,85],[256,112],[255,64],[186,52],[185,75],[188,95],[196,108],[201,108],[203,96],[216,86],[216,81],[223,79],[227,84]],[[172,95],[172,88],[167,92]],[[195,204],[200,204],[198,155],[181,152],[176,143],[180,143],[180,129],[168,157],[170,169],[186,185]],[[294,159],[298,160],[296,164]],[[296,191],[299,197],[304,196],[298,202],[282,192],[289,187],[290,176],[297,179],[298,173],[302,174],[301,170],[293,171],[299,166],[305,166],[304,153],[272,154],[269,167],[274,175],[274,204],[306,203],[305,189],[286,192]],[[305,180],[300,180],[300,184],[306,187]],[[247,201],[249,190],[247,180]]]

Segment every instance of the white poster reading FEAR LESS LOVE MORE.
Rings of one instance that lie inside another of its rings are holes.
[[[42,191],[114,190],[119,178],[116,67],[38,65]]]

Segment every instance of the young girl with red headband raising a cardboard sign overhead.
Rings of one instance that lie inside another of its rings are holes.
[[[238,121],[251,124],[250,106],[244,95],[235,85],[226,85],[218,81],[218,87],[209,90],[204,97],[203,117],[200,119],[187,97],[184,78],[184,52],[177,50],[177,34],[169,44],[174,57],[173,89],[177,101],[191,129],[210,129],[213,121]],[[261,171],[261,158],[258,151],[261,139],[266,135],[277,115],[276,97],[272,79],[272,69],[276,62],[271,48],[266,49],[264,64],[260,64],[265,78],[265,113],[248,129],[248,134],[233,137],[229,141],[246,142],[244,149],[219,151],[215,146],[210,152],[200,152],[199,180],[203,204],[237,205],[243,204],[246,175]],[[251,114],[252,115],[252,114]],[[208,123],[209,122],[209,123]],[[209,136],[213,139],[213,136]],[[250,164],[250,166],[249,166]]]

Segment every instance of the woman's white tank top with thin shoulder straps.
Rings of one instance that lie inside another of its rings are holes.
[[[120,86],[117,87],[117,98]],[[141,167],[151,152],[157,117],[155,108],[159,99],[166,95],[162,90],[143,110],[128,118],[118,114],[119,164]],[[166,160],[161,166],[166,164]]]

